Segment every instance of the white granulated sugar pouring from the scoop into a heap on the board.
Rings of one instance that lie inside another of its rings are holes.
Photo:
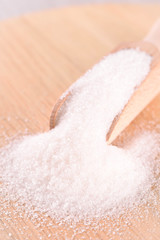
[[[145,132],[123,148],[105,139],[151,61],[139,49],[120,50],[74,83],[53,130],[1,149],[2,194],[57,221],[119,215],[144,201],[155,181],[159,135]]]

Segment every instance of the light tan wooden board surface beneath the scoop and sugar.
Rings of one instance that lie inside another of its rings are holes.
[[[142,39],[158,17],[160,5],[88,5],[1,22],[1,146],[6,135],[48,130],[53,104],[61,93],[119,43]],[[155,118],[159,122],[160,96],[134,124]],[[113,224],[111,232],[88,230],[74,239],[159,240],[159,224],[151,211],[143,222],[133,219],[122,238],[113,234]],[[21,233],[22,226],[32,233],[29,240],[40,239],[32,222],[25,218],[15,221],[12,216],[9,223],[5,217],[0,219],[0,240],[26,240]],[[69,233],[65,238],[67,229],[60,229],[57,237],[50,238],[48,233],[54,231],[53,227],[44,228],[43,239],[71,239]]]

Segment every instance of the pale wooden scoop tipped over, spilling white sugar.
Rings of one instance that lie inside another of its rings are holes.
[[[115,48],[112,53],[128,48],[139,48],[151,55],[151,68],[149,74],[134,91],[122,112],[114,118],[106,135],[106,141],[108,144],[111,144],[160,92],[160,20],[154,24],[153,28],[143,41],[123,43]],[[69,95],[69,92],[64,94],[55,104],[50,117],[50,129],[55,127],[58,111]]]

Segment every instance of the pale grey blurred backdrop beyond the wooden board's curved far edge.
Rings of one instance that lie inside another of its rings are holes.
[[[159,0],[0,0],[0,20],[47,8],[105,2],[158,3]]]

